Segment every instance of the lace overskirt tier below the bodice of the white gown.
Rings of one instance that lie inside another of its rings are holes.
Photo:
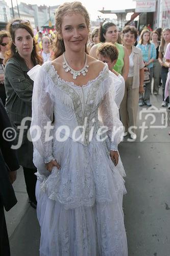
[[[54,157],[61,168],[54,167],[48,177],[38,170],[37,178],[48,198],[60,202],[65,209],[93,206],[95,201],[113,202],[116,195],[126,193],[124,180],[110,159],[106,143],[93,139],[84,147],[68,139],[54,143]],[[38,166],[39,162],[34,164]]]

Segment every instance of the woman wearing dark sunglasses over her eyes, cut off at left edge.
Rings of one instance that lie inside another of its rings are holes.
[[[0,97],[3,101],[5,106],[6,101],[6,92],[4,86],[4,69],[5,69],[5,52],[8,49],[8,44],[10,41],[10,35],[7,31],[2,30],[0,31]]]

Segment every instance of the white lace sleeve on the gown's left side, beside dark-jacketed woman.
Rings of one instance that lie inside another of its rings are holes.
[[[30,75],[31,77],[31,75]],[[50,81],[43,69],[39,67],[34,79],[32,98],[31,136],[34,147],[48,163],[54,159],[52,150],[53,101],[50,93]]]

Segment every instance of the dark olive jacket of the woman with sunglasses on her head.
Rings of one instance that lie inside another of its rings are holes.
[[[5,65],[5,89],[7,94],[6,111],[14,127],[18,141],[20,130],[17,126],[25,117],[32,115],[33,81],[27,75],[29,68],[25,61],[19,57],[10,58]],[[33,144],[28,140],[27,132],[31,121],[27,121],[24,130],[22,145],[17,150],[19,164],[23,167],[35,168],[33,164]]]

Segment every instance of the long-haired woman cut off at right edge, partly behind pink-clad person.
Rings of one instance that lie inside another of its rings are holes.
[[[161,66],[161,78],[162,78],[162,104],[161,106],[166,106],[169,103],[169,97],[164,100],[164,93],[165,93],[165,84],[166,84],[166,77],[168,73],[168,67],[165,65],[165,57],[164,54],[166,52],[166,47],[170,42],[170,29],[165,28],[162,31],[162,38],[159,46],[159,56],[158,60]]]

